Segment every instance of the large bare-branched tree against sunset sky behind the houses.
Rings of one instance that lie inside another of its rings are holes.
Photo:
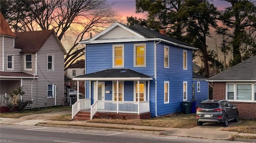
[[[23,0],[12,5],[20,1]],[[88,35],[86,33],[97,33],[116,21],[115,12],[105,0],[33,0],[24,1],[24,5],[24,16],[13,16],[11,20],[16,18],[20,25],[15,31],[54,29],[62,42],[65,36],[73,38],[68,38],[70,47],[65,57],[65,70],[84,55],[84,47],[78,42]]]

